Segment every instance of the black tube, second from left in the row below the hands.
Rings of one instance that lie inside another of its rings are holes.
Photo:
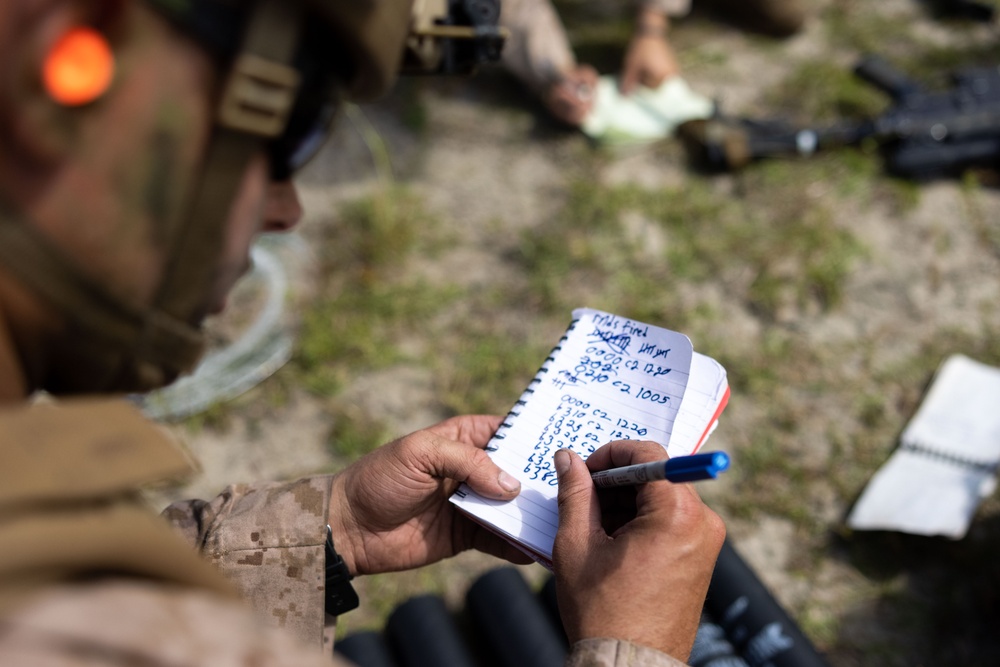
[[[385,635],[401,667],[474,667],[448,608],[437,595],[419,595],[396,607]]]

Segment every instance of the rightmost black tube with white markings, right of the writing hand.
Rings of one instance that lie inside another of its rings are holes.
[[[827,667],[729,540],[719,553],[705,609],[750,667]]]

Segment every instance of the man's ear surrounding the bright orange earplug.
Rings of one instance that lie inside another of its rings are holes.
[[[92,95],[82,104],[60,101],[45,84],[46,64],[59,55],[64,38],[79,28],[93,30],[115,58],[127,4],[129,0],[56,0],[39,3],[37,11],[21,17],[25,25],[5,87],[10,96],[6,102],[11,110],[11,139],[22,158],[36,165],[53,165],[72,153],[87,118],[99,112],[102,95]]]

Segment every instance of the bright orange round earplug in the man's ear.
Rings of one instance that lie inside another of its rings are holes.
[[[45,57],[42,81],[49,96],[66,106],[93,102],[108,89],[115,59],[104,35],[92,28],[72,28]]]

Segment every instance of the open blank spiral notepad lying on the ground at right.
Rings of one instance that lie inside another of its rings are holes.
[[[948,358],[848,517],[859,530],[965,535],[1000,466],[1000,369]]]

